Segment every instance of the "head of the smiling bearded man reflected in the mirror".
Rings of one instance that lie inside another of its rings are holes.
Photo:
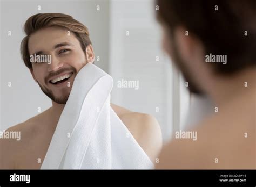
[[[39,13],[26,20],[24,31],[21,54],[26,67],[45,95],[66,104],[76,74],[94,61],[87,27],[69,15]],[[35,62],[33,56],[40,55],[50,56],[51,62]]]

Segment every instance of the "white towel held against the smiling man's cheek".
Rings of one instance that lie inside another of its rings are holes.
[[[77,74],[41,169],[152,169],[110,107],[112,77],[88,63]]]

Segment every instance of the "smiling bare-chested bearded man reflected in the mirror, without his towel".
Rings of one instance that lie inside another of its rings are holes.
[[[0,168],[41,168],[76,75],[95,59],[86,26],[69,15],[33,15],[26,21],[24,30],[26,37],[21,44],[22,58],[33,79],[52,100],[52,107],[24,123],[9,128],[10,132],[20,131],[21,140],[0,140],[3,154]],[[36,57],[31,60],[33,56],[38,55],[51,57],[45,57],[44,60]],[[161,149],[161,131],[156,119],[114,104],[111,104],[111,107],[138,145],[154,162]],[[122,153],[118,154],[121,155],[119,163],[124,162]],[[42,159],[41,162],[38,162],[38,158]]]

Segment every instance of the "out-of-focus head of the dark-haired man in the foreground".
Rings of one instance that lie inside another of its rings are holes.
[[[255,0],[157,0],[163,47],[188,88],[206,92],[207,83],[255,67]]]

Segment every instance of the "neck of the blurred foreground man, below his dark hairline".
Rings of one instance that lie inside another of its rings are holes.
[[[248,92],[254,92],[256,88],[256,68],[245,69],[238,74],[215,78],[209,94],[215,104],[223,105],[231,99],[241,98]]]

